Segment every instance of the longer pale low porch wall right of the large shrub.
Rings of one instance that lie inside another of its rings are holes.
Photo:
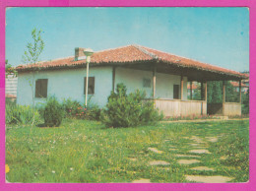
[[[207,114],[207,103],[202,100],[155,99],[154,101],[164,116]]]

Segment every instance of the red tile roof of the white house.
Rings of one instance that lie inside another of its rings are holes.
[[[156,49],[140,46],[128,45],[114,49],[98,51],[91,57],[91,64],[107,64],[107,63],[131,63],[137,61],[154,61],[159,60],[168,64],[177,65],[180,67],[197,68],[199,70],[207,70],[217,73],[247,78],[247,75],[224,69],[221,67],[205,64],[192,59],[176,56]],[[39,62],[38,64],[19,65],[18,71],[30,70],[32,68],[58,68],[58,67],[74,67],[83,66],[86,60],[75,61],[73,57],[67,57],[52,61]]]

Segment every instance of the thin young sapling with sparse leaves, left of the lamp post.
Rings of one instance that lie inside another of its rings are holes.
[[[37,31],[35,28],[32,30],[32,42],[27,44],[27,50],[23,55],[23,62],[27,64],[36,64],[39,60],[39,55],[44,48],[44,42],[41,38],[41,30]],[[32,108],[34,108],[34,73],[35,70],[32,68]],[[33,122],[32,122],[33,124]]]

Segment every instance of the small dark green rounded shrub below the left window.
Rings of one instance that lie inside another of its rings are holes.
[[[64,114],[62,109],[62,105],[54,96],[49,97],[43,114],[44,125],[49,127],[58,127],[61,124]]]

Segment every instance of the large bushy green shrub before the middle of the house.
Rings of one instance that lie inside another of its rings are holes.
[[[155,123],[162,118],[151,101],[143,101],[140,91],[127,96],[126,87],[118,84],[116,93],[108,96],[106,108],[101,111],[100,120],[108,127],[130,127]]]

